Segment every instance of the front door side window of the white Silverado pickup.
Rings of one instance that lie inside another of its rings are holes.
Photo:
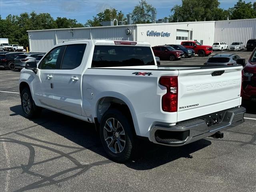
[[[40,69],[56,69],[59,68],[59,63],[61,62],[60,52],[65,46],[56,47],[50,53],[48,53],[41,62]]]

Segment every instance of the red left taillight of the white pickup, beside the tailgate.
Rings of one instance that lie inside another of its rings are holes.
[[[162,110],[176,112],[178,110],[178,76],[162,76],[159,84],[167,88],[162,97]]]

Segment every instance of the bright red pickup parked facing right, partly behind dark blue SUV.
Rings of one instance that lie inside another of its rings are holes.
[[[199,57],[212,54],[212,46],[202,45],[197,41],[182,41],[181,45],[186,48],[194,49],[195,54],[198,54]]]

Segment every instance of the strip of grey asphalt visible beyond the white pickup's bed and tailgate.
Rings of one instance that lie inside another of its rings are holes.
[[[205,57],[198,57],[192,56],[191,58],[182,58],[180,60],[176,61],[169,61],[169,60],[161,60],[160,64],[161,65],[203,65],[209,57],[215,55],[215,54],[238,54],[240,58],[245,59],[246,61],[248,60],[250,54],[252,53],[251,51],[247,50],[241,50],[241,51],[214,51],[210,56],[205,56]]]

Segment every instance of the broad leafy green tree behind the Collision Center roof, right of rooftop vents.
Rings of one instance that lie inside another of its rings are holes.
[[[218,0],[182,0],[171,9],[170,22],[225,20],[229,12],[219,8]]]

